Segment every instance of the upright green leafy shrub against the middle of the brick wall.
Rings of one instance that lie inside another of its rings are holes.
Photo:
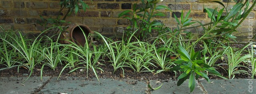
[[[134,4],[132,10],[125,10],[118,14],[118,17],[124,16],[124,18],[132,22],[132,25],[127,27],[128,34],[130,31],[134,32],[139,29],[136,37],[146,39],[148,36],[152,36],[154,30],[159,31],[158,33],[170,30],[165,28],[161,22],[153,20],[156,16],[166,16],[159,10],[166,9],[171,11],[166,6],[157,5],[159,2],[162,2],[162,0],[141,0],[141,7]]]

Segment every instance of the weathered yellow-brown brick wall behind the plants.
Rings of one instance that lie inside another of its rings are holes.
[[[219,4],[213,3],[214,0],[164,0],[161,5],[168,6],[173,12],[187,12],[192,10],[190,17],[193,20],[202,23],[210,22],[203,8],[222,8]],[[228,0],[218,0],[226,4]],[[36,23],[39,15],[44,18],[55,18],[60,8],[60,0],[0,0],[0,26],[5,30],[13,28],[27,33],[36,33],[44,30],[42,26]],[[140,0],[86,0],[90,6],[86,12],[72,15],[66,20],[70,22],[79,22],[89,26],[91,30],[105,35],[120,34],[129,22],[126,19],[118,18],[118,14],[124,10],[131,9],[134,3],[140,3]],[[233,0],[230,4],[234,4]],[[228,8],[231,8],[229,6]],[[164,10],[163,10],[164,11]],[[250,13],[248,19],[243,22],[243,26],[238,28],[238,32],[248,32],[248,28],[256,30],[255,20],[256,8]],[[175,27],[171,12],[165,12],[166,17],[157,18],[169,27]],[[249,21],[253,24],[249,24]],[[195,29],[190,29],[195,32]],[[200,29],[199,29],[200,30]],[[248,36],[248,33],[240,34],[241,38]],[[244,38],[245,39],[245,38]]]

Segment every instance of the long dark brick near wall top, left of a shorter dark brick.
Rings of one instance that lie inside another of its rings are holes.
[[[118,3],[98,3],[99,9],[120,9]]]

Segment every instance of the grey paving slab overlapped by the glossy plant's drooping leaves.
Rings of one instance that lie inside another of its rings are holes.
[[[151,94],[205,94],[204,90],[200,87],[197,81],[196,87],[191,93],[190,88],[188,88],[188,80],[186,80],[180,86],[177,86],[177,82],[178,81],[173,80],[164,80],[164,82],[160,82],[157,80],[150,81],[152,88],[156,88],[163,84],[160,89],[152,90]]]

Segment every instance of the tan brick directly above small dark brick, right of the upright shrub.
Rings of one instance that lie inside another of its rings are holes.
[[[190,10],[190,4],[168,4],[172,10]]]

